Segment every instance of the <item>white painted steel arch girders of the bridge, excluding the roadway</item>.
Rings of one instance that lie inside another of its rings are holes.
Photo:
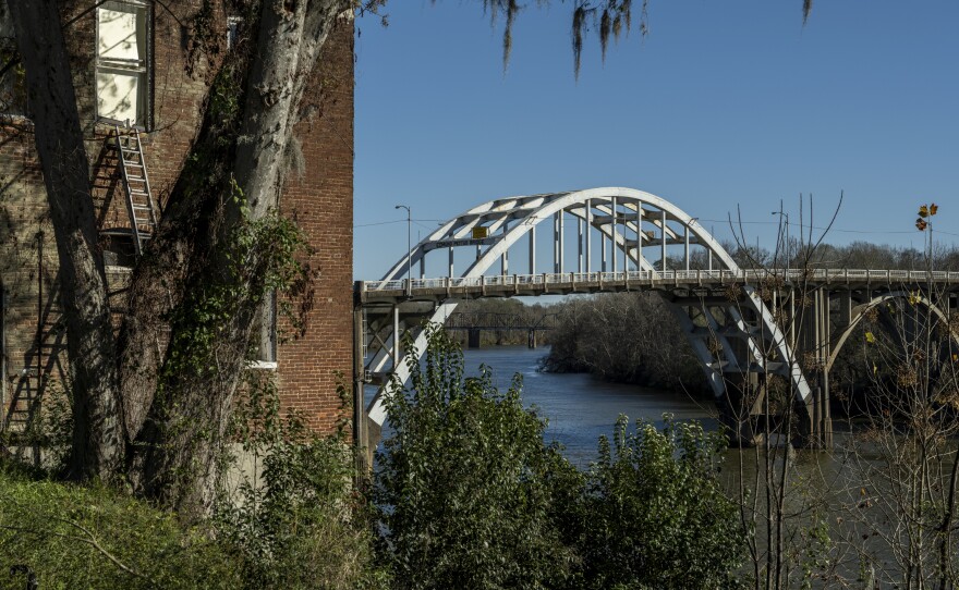
[[[416,244],[408,255],[402,256],[389,272],[384,275],[383,280],[386,282],[404,279],[408,268],[412,268],[417,263],[423,268],[426,255],[429,251],[441,248],[450,249],[450,268],[452,268],[452,248],[463,246],[475,246],[476,258],[464,272],[458,273],[458,278],[482,276],[496,262],[506,262],[507,253],[510,247],[520,238],[533,234],[535,228],[541,223],[546,224],[542,228],[543,232],[548,232],[550,225],[553,225],[554,239],[561,242],[562,237],[557,235],[557,228],[561,228],[562,224],[557,223],[555,219],[556,216],[561,217],[563,213],[576,218],[578,223],[586,226],[585,231],[578,232],[580,241],[579,253],[585,250],[587,257],[585,260],[586,269],[576,269],[578,271],[590,270],[590,228],[598,232],[604,251],[606,250],[605,245],[607,241],[614,245],[612,260],[616,259],[616,253],[621,253],[624,260],[631,260],[638,269],[643,271],[656,273],[655,265],[644,256],[643,248],[655,248],[659,255],[659,260],[665,260],[667,247],[678,245],[684,247],[687,261],[689,259],[690,245],[695,245],[705,248],[712,258],[718,260],[719,268],[731,271],[740,270],[729,254],[699,223],[696,218],[689,216],[679,207],[643,190],[623,187],[603,187],[507,197],[473,207],[456,218],[441,223],[436,231]],[[643,224],[652,229],[644,230]],[[480,235],[474,237],[474,230],[481,228],[483,230],[480,230]],[[658,235],[656,235],[657,232]],[[628,237],[629,234],[635,237],[630,238]],[[531,246],[530,250],[531,263],[534,263],[535,246]],[[553,251],[556,253],[557,249],[554,248]],[[554,261],[554,267],[561,263],[561,253],[559,258],[559,261]],[[584,262],[580,257],[575,257],[574,260],[580,266]],[[665,266],[665,262],[663,265]],[[567,269],[558,270],[562,272]],[[793,358],[785,335],[773,321],[772,312],[753,290],[746,288],[745,293],[746,305],[761,318],[763,324],[762,337],[765,339],[766,348],[768,348],[768,343],[773,343],[780,358]],[[430,322],[442,323],[452,314],[456,306],[457,302],[453,299],[444,300],[436,307]],[[687,316],[687,311],[681,306],[671,305],[671,307],[680,320],[683,332],[690,340],[693,349],[703,362],[704,371],[713,391],[717,395],[721,395],[725,391],[721,371],[712,366],[715,365],[716,358],[709,352],[702,335],[696,334],[696,330]],[[711,328],[715,328],[715,325]],[[408,329],[413,330],[414,347],[417,355],[422,355],[426,348],[425,331],[421,327]],[[743,330],[745,330],[744,327]],[[725,364],[741,367],[742,362],[732,356],[732,348],[726,342],[725,336],[719,334],[716,337],[723,345],[723,355],[726,357]],[[761,345],[754,341],[757,335],[746,334],[746,337],[749,339],[751,356],[760,355],[756,360],[762,362],[762,355],[758,352],[762,349]],[[383,342],[387,346],[391,346],[394,340],[392,335],[387,335],[383,339]],[[373,368],[378,372],[385,371],[387,361],[392,356],[391,351],[379,351],[374,355]],[[418,356],[416,360],[418,360]],[[396,381],[399,383],[404,383],[409,378],[410,369],[408,362],[409,360],[403,359],[392,367],[392,372],[397,378]],[[810,388],[796,361],[792,362],[791,369],[784,368],[780,372],[791,378],[798,397],[802,401],[810,398]],[[380,425],[384,422],[386,418],[383,406],[384,396],[391,393],[390,385],[384,385],[369,402],[367,411],[369,418],[375,422]]]

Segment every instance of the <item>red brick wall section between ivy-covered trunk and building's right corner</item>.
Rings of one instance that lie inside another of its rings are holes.
[[[303,337],[280,345],[283,400],[321,431],[340,415],[337,373],[352,377],[353,310],[353,21],[342,19],[307,88],[314,115],[296,128],[302,176],[290,172],[281,197],[284,214],[306,232],[317,278]]]

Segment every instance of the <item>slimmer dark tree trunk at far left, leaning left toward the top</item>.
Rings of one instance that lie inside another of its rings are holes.
[[[75,478],[108,479],[123,451],[113,332],[89,164],[56,0],[9,0],[60,261]]]

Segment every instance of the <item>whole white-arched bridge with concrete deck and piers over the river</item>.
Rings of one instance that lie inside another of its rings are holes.
[[[551,272],[537,272],[544,229]],[[445,275],[427,278],[427,257],[435,268],[437,255],[446,255]],[[457,255],[466,260],[460,273]],[[518,257],[527,262],[523,274],[510,269]],[[408,279],[414,268],[418,276]],[[409,331],[422,354],[424,320],[446,322],[459,300],[622,291],[664,296],[727,415],[743,404],[754,414],[764,395],[758,376],[779,374],[801,409],[806,442],[825,446],[829,368],[863,314],[908,298],[912,314],[945,319],[957,308],[959,273],[741,269],[695,218],[631,188],[488,201],[441,224],[383,280],[356,283],[354,384],[380,385],[366,407],[372,428],[385,419],[390,377],[409,377],[401,334]],[[735,422],[727,420],[733,435],[749,437],[749,420]]]

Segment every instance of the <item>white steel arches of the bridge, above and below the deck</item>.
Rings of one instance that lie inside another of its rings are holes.
[[[576,224],[575,256],[567,256],[565,221],[572,218]],[[696,218],[691,217],[671,202],[633,188],[603,187],[565,193],[517,196],[496,199],[474,207],[456,218],[441,223],[430,235],[416,244],[412,250],[400,258],[386,273],[383,284],[404,279],[415,269],[425,279],[426,259],[430,253],[447,250],[447,273],[449,278],[472,279],[490,273],[509,274],[509,254],[515,250],[521,238],[529,248],[529,268],[536,272],[536,230],[553,226],[553,271],[554,272],[600,272],[635,271],[651,273],[667,270],[676,263],[690,268],[692,256],[700,253],[701,263],[706,262],[709,270],[739,271],[739,267],[723,246],[703,228]],[[598,250],[597,250],[598,247]],[[457,273],[454,251],[475,248],[475,258],[465,271]],[[676,251],[680,255],[677,256]],[[621,256],[621,258],[620,258]],[[435,258],[435,255],[434,255]],[[541,263],[542,263],[541,256]],[[570,260],[574,259],[574,262]],[[497,269],[498,267],[498,269]],[[498,272],[497,272],[498,270]],[[785,335],[776,325],[773,314],[766,308],[752,287],[743,287],[743,307],[750,308],[757,325],[748,325],[735,304],[728,305],[728,312],[736,318],[738,329],[729,334],[718,329],[711,314],[702,314],[705,322],[693,321],[684,307],[672,305],[687,337],[703,364],[714,393],[725,392],[723,371],[746,372],[757,366],[762,370],[784,374],[792,381],[798,401],[810,400],[810,388],[799,365],[790,362],[766,364],[761,351],[774,351],[779,359],[793,359]],[[456,308],[456,299],[445,299],[433,309],[430,322],[444,323]],[[705,323],[705,324],[704,324]],[[421,325],[404,325],[396,312],[392,327],[385,337],[379,339],[379,348],[372,354],[366,364],[367,372],[391,372],[400,383],[409,378],[409,367],[399,352],[399,334],[410,330],[414,335],[414,348],[422,354],[426,347],[426,334]],[[737,359],[733,347],[727,337],[745,340],[749,358]],[[719,351],[716,351],[718,343]],[[717,359],[717,354],[720,357]],[[775,368],[773,366],[775,365]],[[385,419],[383,400],[389,395],[389,385],[384,385],[367,405],[372,420],[381,425]]]

